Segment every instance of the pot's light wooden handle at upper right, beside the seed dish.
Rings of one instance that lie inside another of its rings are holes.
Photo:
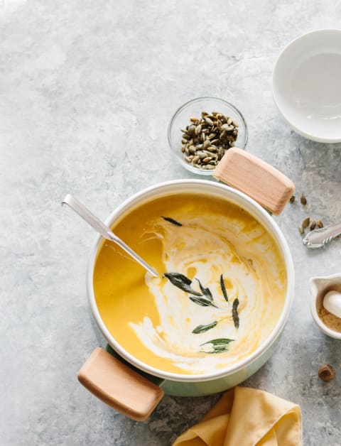
[[[281,214],[295,191],[286,175],[240,148],[229,148],[213,173],[217,180],[249,195],[269,211]]]

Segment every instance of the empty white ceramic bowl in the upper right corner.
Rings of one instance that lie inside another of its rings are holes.
[[[272,89],[298,134],[341,142],[341,29],[312,31],[289,43],[276,61]]]

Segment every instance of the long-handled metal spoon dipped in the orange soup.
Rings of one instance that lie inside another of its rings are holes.
[[[75,197],[72,197],[72,195],[67,194],[64,200],[62,201],[62,205],[67,205],[71,207],[71,209],[77,212],[77,214],[80,215],[82,219],[85,219],[85,221],[89,223],[90,226],[92,226],[95,231],[99,232],[99,234],[101,234],[102,237],[104,237],[104,239],[114,241],[116,244],[121,246],[121,249],[124,249],[124,251],[126,251],[126,253],[129,254],[129,256],[131,256],[134,260],[136,260],[136,262],[140,263],[141,266],[146,268],[148,273],[151,273],[151,275],[154,277],[158,277],[158,273],[155,271],[154,268],[151,268],[151,266],[149,266],[148,263],[144,261],[144,259],[141,259],[139,254],[136,254],[135,251],[129,248],[129,246],[124,243],[124,241],[119,239],[119,237],[115,235],[112,232],[112,230],[109,227],[107,227],[106,224],[104,224],[103,222],[101,222],[100,219],[95,217],[94,214],[92,214],[92,212],[90,212],[90,210],[88,210],[87,207],[82,205],[82,203],[80,203]]]

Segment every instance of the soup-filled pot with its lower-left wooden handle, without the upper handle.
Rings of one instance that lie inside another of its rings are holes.
[[[271,214],[207,180],[148,187],[106,220],[153,277],[97,236],[87,271],[90,308],[108,347],[79,379],[135,420],[168,393],[236,386],[276,348],[293,298],[293,262]]]

